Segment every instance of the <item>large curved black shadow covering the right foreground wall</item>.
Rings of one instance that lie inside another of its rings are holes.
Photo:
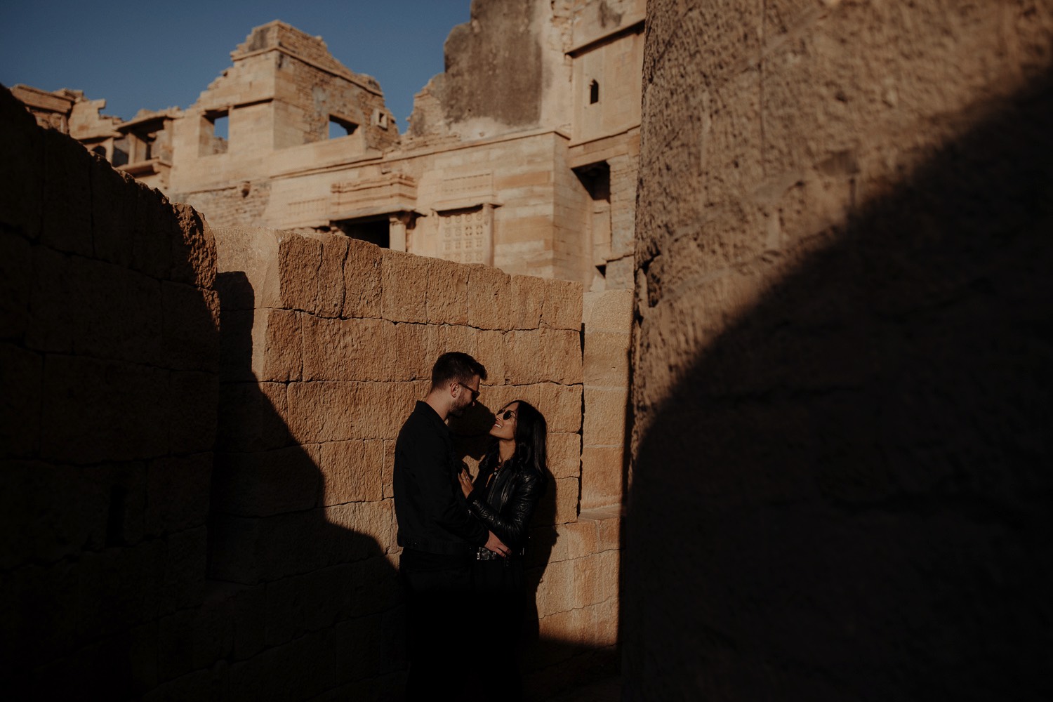
[[[933,154],[638,444],[627,698],[1053,691],[1053,91]]]

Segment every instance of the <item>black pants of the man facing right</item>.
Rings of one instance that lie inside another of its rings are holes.
[[[434,700],[464,689],[470,657],[472,560],[403,548],[399,579],[405,595],[406,700]]]

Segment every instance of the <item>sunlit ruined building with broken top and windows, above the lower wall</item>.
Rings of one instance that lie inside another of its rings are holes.
[[[401,135],[376,80],[279,21],[185,109],[122,122],[69,92],[16,96],[213,226],[629,288],[644,4],[476,3]]]

